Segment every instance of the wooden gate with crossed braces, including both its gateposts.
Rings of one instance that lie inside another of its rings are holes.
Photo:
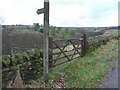
[[[79,39],[53,40],[49,37],[49,65],[54,67],[80,58],[85,55],[86,47],[85,34]]]

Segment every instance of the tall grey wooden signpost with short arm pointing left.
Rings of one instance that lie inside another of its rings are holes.
[[[44,13],[44,38],[43,38],[43,74],[45,79],[48,78],[48,59],[49,59],[49,0],[44,0],[44,8],[38,9],[37,14]]]

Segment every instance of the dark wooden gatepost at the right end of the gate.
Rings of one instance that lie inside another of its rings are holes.
[[[81,54],[82,54],[82,57],[83,57],[87,53],[87,48],[88,48],[87,44],[88,43],[87,43],[86,34],[83,34],[82,38],[83,38],[83,40],[82,40],[82,43],[81,43]]]

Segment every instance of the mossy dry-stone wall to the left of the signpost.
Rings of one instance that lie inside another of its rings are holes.
[[[14,78],[18,67],[20,67],[20,74],[25,84],[40,78],[43,74],[41,54],[39,49],[33,49],[17,55],[4,55],[2,58],[3,87]]]

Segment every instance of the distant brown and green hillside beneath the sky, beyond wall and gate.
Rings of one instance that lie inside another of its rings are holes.
[[[38,32],[33,26],[10,26],[3,25],[2,46],[3,54],[10,54],[11,49],[17,48],[42,48],[43,47],[43,33]],[[114,34],[117,33],[117,29],[108,29],[108,27],[100,28],[77,28],[77,27],[50,27],[49,36],[54,39],[75,39],[80,38],[83,33],[86,33],[88,37],[105,34],[107,32]],[[111,30],[111,31],[110,31]],[[114,30],[114,31],[113,31]]]

